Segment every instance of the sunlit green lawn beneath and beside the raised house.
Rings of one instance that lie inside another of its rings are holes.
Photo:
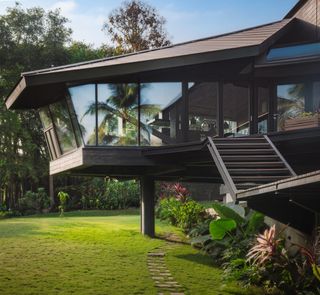
[[[70,212],[0,220],[0,294],[157,294],[147,252],[164,244],[139,234],[131,211]],[[177,229],[157,222],[157,232]],[[186,294],[256,294],[225,284],[208,257],[188,245],[166,256]]]

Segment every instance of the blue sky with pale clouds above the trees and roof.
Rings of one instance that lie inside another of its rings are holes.
[[[0,14],[17,0],[0,0]],[[95,47],[107,43],[101,30],[119,0],[18,0],[24,8],[60,8],[73,39]],[[148,0],[167,20],[173,43],[199,39],[282,19],[298,0]]]

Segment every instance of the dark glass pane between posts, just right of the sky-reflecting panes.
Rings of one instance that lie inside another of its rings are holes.
[[[218,83],[189,83],[189,140],[216,136]]]

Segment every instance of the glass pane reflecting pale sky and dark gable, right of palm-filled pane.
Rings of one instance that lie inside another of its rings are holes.
[[[141,84],[141,145],[176,142],[181,132],[181,103],[181,83]]]

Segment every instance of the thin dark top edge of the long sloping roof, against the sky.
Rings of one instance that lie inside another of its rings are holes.
[[[46,73],[46,72],[49,73],[49,72],[52,72],[55,70],[68,69],[68,68],[72,68],[75,66],[82,66],[82,65],[95,64],[95,63],[109,61],[109,60],[115,60],[115,59],[119,59],[119,58],[123,58],[123,57],[127,57],[127,56],[133,56],[133,55],[138,55],[138,54],[143,54],[143,53],[148,53],[148,52],[153,52],[153,51],[159,51],[159,50],[163,50],[163,49],[178,47],[178,46],[192,44],[192,43],[201,42],[201,41],[206,41],[206,40],[210,40],[210,39],[217,39],[217,38],[221,38],[221,37],[225,37],[225,36],[229,36],[229,35],[234,35],[234,34],[246,32],[246,31],[259,29],[262,27],[271,26],[271,25],[274,25],[277,23],[290,22],[290,21],[291,21],[291,19],[285,18],[283,20],[274,21],[274,22],[270,22],[270,23],[266,23],[266,24],[262,24],[262,25],[257,25],[254,27],[240,29],[240,30],[236,30],[236,31],[228,32],[228,33],[219,34],[219,35],[213,35],[213,36],[209,36],[209,37],[205,37],[205,38],[199,38],[199,39],[194,39],[194,40],[190,40],[190,41],[180,42],[180,43],[171,44],[171,45],[163,46],[163,47],[159,47],[159,48],[146,49],[146,50],[142,50],[142,51],[127,53],[127,54],[122,54],[122,55],[116,55],[116,56],[109,56],[109,57],[104,57],[104,58],[90,60],[90,61],[84,61],[84,62],[67,64],[67,65],[62,65],[62,66],[57,66],[57,67],[39,69],[39,70],[35,70],[35,71],[23,72],[23,73],[21,73],[21,76],[29,76],[29,75],[34,75],[34,74]]]

